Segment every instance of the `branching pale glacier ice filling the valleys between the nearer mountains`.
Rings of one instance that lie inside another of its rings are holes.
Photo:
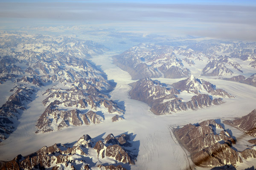
[[[114,80],[117,83],[116,88],[110,95],[111,99],[125,103],[124,120],[111,122],[109,120],[111,117],[105,116],[105,122],[98,125],[68,127],[61,131],[35,134],[35,122],[45,109],[42,104],[45,96],[42,96],[42,94],[47,88],[52,87],[52,85],[48,85],[38,91],[35,100],[29,103],[29,109],[24,111],[19,119],[20,124],[17,130],[8,139],[0,143],[0,160],[11,160],[18,154],[26,156],[45,145],[74,142],[83,134],[89,134],[92,138],[95,138],[97,136],[106,137],[109,133],[119,135],[127,132],[136,135],[134,141],[139,141],[137,142],[139,143],[139,155],[135,165],[131,166],[132,170],[194,169],[195,165],[189,158],[189,153],[180,146],[173,136],[172,127],[188,123],[194,124],[207,119],[223,120],[241,117],[256,108],[255,87],[237,82],[212,79],[211,77],[202,77],[216,85],[217,88],[222,88],[236,96],[236,98],[224,98],[226,103],[223,105],[215,105],[197,111],[182,111],[172,115],[156,116],[151,113],[147,104],[129,98],[128,92],[131,90],[131,86],[128,84],[134,82],[134,80],[131,80],[131,76],[127,72],[122,71],[111,63],[112,55],[114,54],[94,56],[92,61],[105,71],[109,80]],[[166,84],[179,81],[179,79],[164,78],[158,80]],[[238,139],[237,144],[234,145],[237,150],[245,149],[246,140],[253,139],[233,127],[226,127],[225,125],[225,128],[232,130],[233,136]],[[241,138],[241,136],[243,137]],[[252,167],[253,165],[256,167],[255,159],[243,161],[243,164],[238,164],[238,170]],[[197,170],[211,169],[195,168]]]

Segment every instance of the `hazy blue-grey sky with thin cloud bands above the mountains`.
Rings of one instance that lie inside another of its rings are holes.
[[[1,0],[0,29],[88,25],[256,40],[254,0]]]

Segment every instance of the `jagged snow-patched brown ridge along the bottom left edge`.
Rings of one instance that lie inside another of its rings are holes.
[[[0,169],[126,170],[125,167],[135,164],[138,148],[133,146],[131,135],[114,137],[111,133],[103,141],[83,135],[73,144],[44,146],[29,156],[18,155],[12,161],[0,161]],[[98,157],[94,153],[98,153]],[[105,162],[110,164],[106,165]],[[118,162],[124,163],[125,167],[117,165]]]

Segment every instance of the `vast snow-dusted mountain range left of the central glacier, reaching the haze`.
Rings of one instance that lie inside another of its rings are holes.
[[[24,102],[33,102],[44,86],[50,88],[38,106],[45,111],[35,122],[37,133],[97,124],[104,121],[99,113],[124,113],[108,95],[115,83],[88,60],[106,51],[104,46],[65,36],[1,32],[0,37],[0,85],[13,86],[1,107],[0,142],[17,127]]]

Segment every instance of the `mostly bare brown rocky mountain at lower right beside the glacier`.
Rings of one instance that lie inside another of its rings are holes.
[[[255,147],[243,151],[233,149],[236,140],[215,120],[207,120],[196,125],[188,124],[174,133],[191,153],[191,159],[197,166],[221,167],[231,164],[236,167],[247,159],[256,159]]]

